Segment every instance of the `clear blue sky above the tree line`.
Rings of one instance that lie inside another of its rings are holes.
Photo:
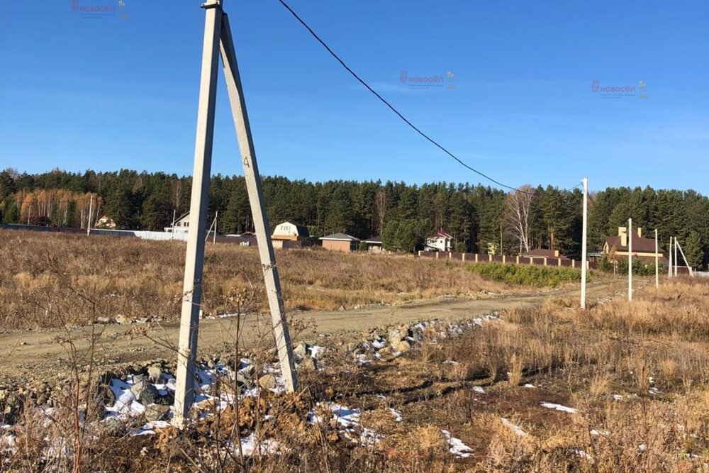
[[[124,1],[124,19],[82,18],[72,0],[3,6],[0,168],[191,174],[200,2]],[[709,194],[709,2],[289,4],[413,123],[498,180],[570,187],[588,176],[593,189]],[[277,0],[225,10],[263,174],[481,182],[354,82]],[[410,89],[402,70],[450,71],[456,88]],[[594,79],[635,96],[604,98]],[[240,174],[223,80],[216,119],[213,174]]]

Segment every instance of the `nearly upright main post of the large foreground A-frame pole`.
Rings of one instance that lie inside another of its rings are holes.
[[[197,107],[197,135],[194,146],[192,196],[189,204],[189,234],[184,263],[182,289],[182,317],[177,352],[177,385],[175,389],[174,425],[184,426],[189,408],[194,401],[194,365],[197,356],[197,328],[202,295],[204,265],[204,233],[207,226],[207,199],[214,137],[214,106],[217,93],[219,65],[218,41],[221,33],[221,6],[219,0],[208,0],[206,10],[202,74]]]

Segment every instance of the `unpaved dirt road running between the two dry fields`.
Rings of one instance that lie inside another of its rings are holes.
[[[622,291],[625,282],[598,282],[589,284],[588,298],[607,297]],[[492,296],[488,299],[449,299],[419,301],[401,306],[362,308],[335,312],[301,312],[294,314],[294,339],[313,338],[318,334],[346,330],[369,330],[383,325],[411,323],[438,318],[459,320],[479,316],[494,310],[515,306],[541,304],[550,296],[578,297],[579,288],[535,291],[528,294]],[[298,334],[299,322],[307,328]],[[255,343],[259,334],[269,333],[268,319],[247,317],[242,328],[242,346]],[[96,359],[106,366],[125,362],[143,362],[157,358],[174,357],[178,323],[95,325]],[[203,320],[199,327],[201,353],[223,352],[233,344],[236,332],[235,318]],[[71,338],[79,351],[90,345],[91,328],[65,330],[37,330],[11,332],[0,335],[1,377],[50,377],[67,367],[67,343]]]

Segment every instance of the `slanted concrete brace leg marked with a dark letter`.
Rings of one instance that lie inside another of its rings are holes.
[[[288,322],[286,321],[283,297],[281,296],[281,282],[278,277],[276,255],[271,241],[266,205],[264,204],[263,189],[261,187],[261,177],[256,162],[254,140],[251,135],[251,126],[246,111],[244,91],[241,85],[239,67],[236,62],[236,52],[229,28],[229,19],[226,14],[222,16],[220,46],[226,88],[229,93],[231,113],[234,118],[236,137],[239,141],[239,149],[241,152],[241,163],[244,167],[246,189],[249,193],[251,213],[256,228],[256,239],[259,245],[259,256],[261,257],[261,265],[264,272],[264,284],[266,286],[269,308],[271,309],[273,333],[276,338],[281,372],[283,372],[284,381],[286,383],[286,391],[293,392],[297,389],[298,382],[293,362],[291,336],[288,330]]]

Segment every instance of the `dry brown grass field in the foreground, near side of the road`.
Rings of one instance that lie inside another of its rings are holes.
[[[301,372],[297,396],[245,400],[182,432],[91,431],[84,469],[709,472],[709,281],[646,287],[632,304],[623,296],[593,301],[588,311],[576,304],[550,298],[455,337],[433,326],[411,352],[366,365],[350,350],[371,334],[342,333],[326,341],[320,371]],[[305,421],[328,402],[359,408],[379,441],[352,443],[332,422]],[[454,457],[442,429],[471,456]],[[46,430],[20,429],[20,453],[8,464],[38,464]],[[230,448],[237,433],[276,440],[279,452],[240,460]]]

